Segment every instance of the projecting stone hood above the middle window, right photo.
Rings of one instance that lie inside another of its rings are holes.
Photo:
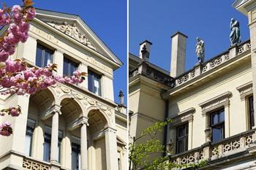
[[[232,95],[232,93],[230,91],[227,91],[218,96],[215,96],[214,98],[208,99],[207,101],[204,101],[203,103],[198,104],[199,107],[202,108],[202,115],[205,116],[207,112],[210,112],[219,107],[228,106],[230,103],[229,98],[231,95]]]

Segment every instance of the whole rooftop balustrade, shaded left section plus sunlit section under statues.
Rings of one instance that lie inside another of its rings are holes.
[[[129,78],[135,77],[138,74],[142,74],[151,80],[161,82],[170,88],[176,88],[179,85],[183,85],[185,82],[193,80],[195,77],[198,77],[201,74],[205,74],[211,69],[222,65],[223,63],[229,61],[231,58],[235,58],[236,56],[241,55],[250,49],[251,44],[250,40],[248,40],[239,45],[230,47],[230,50],[227,50],[224,53],[211,58],[211,60],[206,61],[205,63],[197,64],[193,69],[190,69],[189,71],[184,72],[184,74],[181,74],[175,78],[170,77],[169,75],[164,74],[157,69],[154,69],[154,67],[151,66],[151,64],[147,61],[142,61],[137,68],[129,72]]]

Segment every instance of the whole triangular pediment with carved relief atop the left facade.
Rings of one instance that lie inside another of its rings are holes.
[[[68,36],[88,47],[114,63],[114,69],[122,65],[116,55],[99,39],[94,31],[78,16],[62,12],[53,12],[45,9],[37,9],[36,20],[41,20],[51,28],[59,31],[63,36]]]

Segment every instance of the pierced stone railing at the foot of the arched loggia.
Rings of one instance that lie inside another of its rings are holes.
[[[50,170],[50,163],[35,161],[31,158],[23,158],[23,168],[26,170]]]

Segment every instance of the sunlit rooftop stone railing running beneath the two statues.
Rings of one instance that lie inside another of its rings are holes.
[[[173,87],[178,87],[179,85],[184,84],[184,82],[188,82],[189,80],[194,79],[200,74],[204,74],[215,67],[222,65],[226,61],[229,61],[231,58],[240,55],[241,53],[246,52],[251,49],[250,41],[246,41],[241,43],[240,45],[236,45],[227,50],[225,53],[218,55],[215,58],[212,58],[209,61],[206,61],[202,64],[197,64],[193,69],[181,74],[180,76],[175,78],[175,85]]]

